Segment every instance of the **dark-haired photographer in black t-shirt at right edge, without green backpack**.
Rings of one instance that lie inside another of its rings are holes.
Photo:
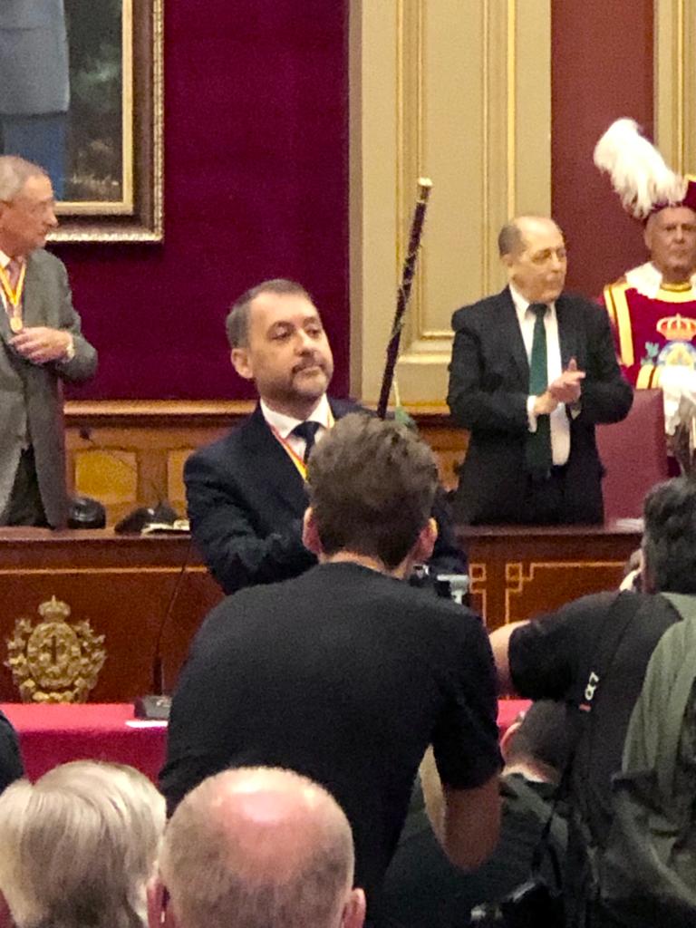
[[[579,702],[589,681],[602,631],[618,611],[629,624],[592,701],[593,764],[574,764],[571,801],[593,842],[606,840],[612,823],[612,774],[621,768],[625,733],[652,651],[679,614],[660,592],[696,595],[696,482],[686,477],[660,483],[645,500],[642,541],[644,592],[599,593],[528,623],[497,628],[491,635],[500,688],[531,699]],[[616,926],[598,904],[586,904],[582,884],[584,842],[571,829],[566,883],[569,925]]]

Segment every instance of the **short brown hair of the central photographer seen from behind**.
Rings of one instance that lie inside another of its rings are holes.
[[[309,458],[309,502],[324,551],[354,551],[389,569],[404,560],[432,514],[437,465],[406,426],[345,416]]]

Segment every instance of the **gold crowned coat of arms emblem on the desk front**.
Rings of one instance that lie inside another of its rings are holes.
[[[6,639],[6,667],[22,702],[86,702],[107,652],[88,621],[69,623],[71,608],[56,597],[42,602],[41,622],[20,618]]]

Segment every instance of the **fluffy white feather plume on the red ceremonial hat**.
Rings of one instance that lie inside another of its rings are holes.
[[[664,163],[664,158],[647,138],[640,135],[632,119],[612,122],[595,146],[594,161],[612,178],[612,186],[624,208],[644,219],[658,203],[678,203],[687,182]]]

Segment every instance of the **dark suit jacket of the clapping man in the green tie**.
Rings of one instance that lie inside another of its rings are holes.
[[[580,413],[571,417],[566,471],[569,522],[602,522],[602,467],[595,424],[618,422],[633,393],[616,363],[606,312],[579,296],[556,301],[561,361],[586,371]],[[521,522],[527,482],[529,362],[509,289],[459,309],[447,403],[470,445],[455,500],[458,522]],[[570,416],[570,413],[569,413]]]

